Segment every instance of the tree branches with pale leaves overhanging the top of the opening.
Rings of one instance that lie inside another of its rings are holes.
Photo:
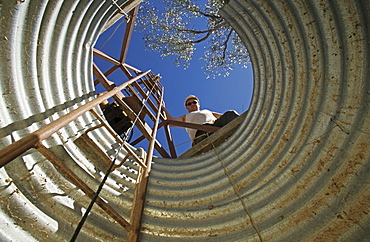
[[[196,46],[204,46],[207,77],[227,76],[234,65],[246,67],[248,52],[231,26],[219,15],[224,0],[144,1],[137,27],[144,33],[146,47],[173,60],[176,66],[189,66]]]

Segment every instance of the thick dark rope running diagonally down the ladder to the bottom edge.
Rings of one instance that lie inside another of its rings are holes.
[[[116,154],[115,154],[115,156],[114,156],[114,159],[113,159],[112,163],[110,164],[110,166],[109,166],[109,168],[108,168],[107,172],[105,173],[105,176],[104,176],[103,180],[102,180],[102,181],[100,182],[100,184],[99,184],[98,190],[96,191],[96,193],[95,193],[95,195],[94,195],[93,199],[91,200],[91,202],[90,202],[90,204],[89,204],[88,208],[86,209],[86,212],[84,213],[84,216],[81,218],[81,221],[79,222],[79,224],[78,224],[78,226],[77,226],[77,228],[76,228],[76,230],[75,230],[75,232],[74,232],[74,234],[73,234],[73,236],[72,236],[72,238],[71,238],[71,240],[70,240],[71,242],[76,241],[76,238],[77,238],[78,234],[80,233],[80,231],[81,231],[81,229],[82,229],[82,226],[83,226],[83,224],[85,223],[85,221],[86,221],[87,217],[89,216],[89,213],[90,213],[90,211],[91,211],[91,209],[92,209],[92,207],[93,207],[93,205],[94,205],[94,203],[95,203],[96,199],[98,199],[98,197],[99,197],[99,193],[100,193],[100,192],[101,192],[101,190],[103,189],[103,186],[104,186],[105,182],[107,181],[109,174],[112,172],[112,169],[113,169],[114,164],[115,164],[115,162],[116,162],[116,160],[117,160],[117,157],[118,157],[119,152],[121,151],[121,149],[122,149],[123,145],[125,144],[125,141],[127,141],[127,134],[131,132],[132,127],[133,127],[133,126],[135,125],[135,123],[137,122],[137,120],[138,120],[138,118],[139,118],[139,116],[140,116],[141,112],[142,112],[142,111],[143,111],[143,109],[144,109],[145,102],[147,102],[147,101],[148,101],[148,99],[149,99],[150,95],[152,94],[152,91],[153,91],[153,89],[154,89],[154,87],[155,87],[155,84],[156,84],[156,83],[153,83],[153,87],[152,87],[152,89],[150,90],[148,97],[143,101],[143,105],[142,105],[142,107],[141,107],[140,111],[138,112],[138,114],[137,114],[137,116],[136,116],[136,118],[135,118],[134,122],[132,123],[132,126],[130,127],[130,129],[128,129],[128,131],[126,131],[126,133],[125,133],[125,135],[124,135],[124,136],[125,136],[124,142],[122,142],[122,143],[120,144],[120,146],[119,146],[119,148],[118,148],[118,150],[117,150],[117,152],[116,152]],[[126,157],[127,157],[127,156],[125,156],[125,158],[126,158]],[[126,159],[124,159],[124,160],[121,162],[121,164],[120,164],[120,165],[123,165],[123,163],[125,162],[125,160],[126,160]]]

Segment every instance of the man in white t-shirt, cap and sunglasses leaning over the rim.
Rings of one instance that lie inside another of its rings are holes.
[[[185,99],[185,108],[188,110],[188,114],[182,115],[178,118],[169,118],[171,120],[183,121],[195,124],[213,125],[216,127],[223,127],[230,121],[239,116],[235,111],[227,111],[224,114],[209,111],[207,109],[200,110],[199,99],[190,95]],[[199,143],[203,139],[207,138],[211,133],[207,133],[201,130],[195,130],[185,128],[188,132],[189,137],[193,141],[193,145]]]

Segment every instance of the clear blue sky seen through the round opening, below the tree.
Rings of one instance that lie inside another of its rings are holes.
[[[95,48],[100,49],[106,40],[110,38],[101,50],[118,59],[125,24],[122,24],[115,34],[111,36],[114,28],[115,26],[112,26],[99,37]],[[171,60],[160,57],[159,53],[146,50],[142,37],[143,34],[141,32],[133,32],[126,63],[141,71],[152,70],[154,74],[162,76],[160,82],[165,88],[164,100],[166,108],[173,117],[186,114],[184,99],[190,94],[194,94],[200,99],[201,108],[203,109],[219,113],[227,110],[243,113],[248,110],[253,92],[253,70],[251,65],[248,65],[248,68],[235,66],[228,77],[206,79],[204,70],[201,68],[204,63],[199,60],[206,43],[203,46],[196,46],[197,51],[190,67],[184,70],[183,67],[176,67]],[[99,62],[96,58],[94,60],[98,61],[98,66],[101,69],[106,70],[102,67],[105,64],[104,62]],[[120,77],[122,76],[120,75]],[[117,85],[127,81],[127,79],[117,78],[116,75],[111,75],[109,79],[116,82]],[[100,85],[97,86],[97,92],[101,91]],[[138,135],[138,131],[134,132],[135,135]],[[179,145],[176,147],[178,155],[191,148],[191,142],[183,128],[171,127],[171,133],[175,145]],[[158,139],[167,148],[163,129],[159,130]],[[138,147],[146,149],[147,143],[141,142]]]

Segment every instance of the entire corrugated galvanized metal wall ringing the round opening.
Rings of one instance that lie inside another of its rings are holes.
[[[2,2],[1,147],[93,97],[91,47],[114,10]],[[215,151],[154,160],[141,239],[368,240],[370,3],[232,0],[221,13],[251,55],[249,114]],[[45,142],[93,188],[102,172],[74,141],[96,124],[86,114]],[[90,137],[114,154],[104,129]],[[103,191],[124,217],[135,170],[126,163]],[[2,241],[69,240],[89,202],[36,151],[2,168],[0,186]],[[124,238],[98,208],[79,237]]]

